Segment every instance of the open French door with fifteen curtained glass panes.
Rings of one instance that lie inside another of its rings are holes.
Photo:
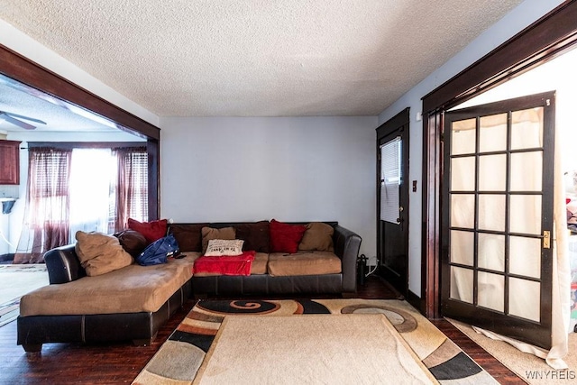
[[[444,116],[442,312],[551,347],[554,92]]]

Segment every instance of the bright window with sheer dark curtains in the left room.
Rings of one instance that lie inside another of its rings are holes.
[[[36,147],[29,152],[23,234],[14,263],[75,242],[78,230],[112,234],[148,219],[145,147]]]

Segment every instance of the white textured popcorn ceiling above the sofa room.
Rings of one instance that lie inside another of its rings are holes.
[[[521,0],[5,0],[160,116],[378,115]]]

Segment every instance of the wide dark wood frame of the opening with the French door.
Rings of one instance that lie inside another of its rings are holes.
[[[441,186],[444,111],[560,56],[577,43],[577,2],[567,1],[423,97],[421,300],[441,317]]]

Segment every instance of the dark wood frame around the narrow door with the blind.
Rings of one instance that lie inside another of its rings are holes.
[[[402,220],[404,221],[404,226],[406,226],[405,228],[407,229],[406,234],[407,234],[407,239],[404,240],[405,244],[406,244],[406,248],[404,250],[405,255],[407,256],[407,276],[404,277],[403,279],[407,282],[407,285],[405,288],[397,288],[395,287],[395,289],[398,289],[398,291],[405,297],[407,297],[408,295],[408,183],[409,183],[409,179],[408,179],[408,150],[409,150],[409,123],[410,123],[410,108],[407,107],[404,110],[402,110],[401,112],[399,112],[397,115],[393,116],[392,118],[390,118],[387,122],[380,124],[379,127],[377,127],[376,132],[377,132],[377,142],[376,142],[376,151],[377,151],[377,174],[376,174],[376,188],[377,188],[377,266],[378,266],[378,270],[379,273],[382,274],[385,279],[387,279],[387,274],[386,271],[382,271],[380,268],[380,247],[381,247],[381,239],[380,239],[380,141],[385,138],[386,136],[389,136],[391,133],[395,133],[397,131],[402,131],[401,137],[402,137],[402,142],[403,142],[403,147],[402,147],[402,152],[401,152],[401,156],[402,156],[402,160],[401,160],[401,164],[402,164],[402,170],[401,170],[401,175],[403,176],[404,180],[404,187],[401,188],[401,191],[399,192],[399,205],[403,206],[403,213],[402,213]],[[400,214],[399,214],[400,217]]]

